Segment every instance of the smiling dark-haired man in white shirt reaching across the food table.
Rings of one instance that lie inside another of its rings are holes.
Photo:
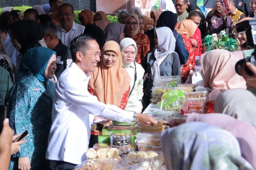
[[[87,91],[88,72],[93,72],[100,61],[100,48],[94,38],[76,37],[70,44],[70,51],[73,63],[60,75],[54,93],[52,127],[46,152],[50,169],[73,169],[86,160],[91,125],[101,119],[97,116],[120,122],[136,119],[148,126],[158,123],[148,115],[101,103]]]

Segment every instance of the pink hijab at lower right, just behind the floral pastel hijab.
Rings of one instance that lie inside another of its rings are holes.
[[[256,129],[224,114],[191,114],[186,122],[204,122],[228,130],[239,142],[242,157],[256,169]]]

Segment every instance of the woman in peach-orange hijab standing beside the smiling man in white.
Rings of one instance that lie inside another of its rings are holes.
[[[88,92],[100,102],[124,109],[128,102],[131,78],[122,67],[120,47],[115,41],[107,41],[102,48],[100,62],[90,72]]]

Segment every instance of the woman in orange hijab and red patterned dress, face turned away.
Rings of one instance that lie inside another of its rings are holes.
[[[185,19],[179,22],[179,24],[175,27],[175,30],[182,36],[183,41],[185,43],[186,49],[189,52],[188,61],[181,67],[181,82],[185,83],[190,70],[194,70],[196,60],[195,60],[195,51],[197,47],[192,46],[191,37],[194,35],[196,31],[196,24],[190,20]]]

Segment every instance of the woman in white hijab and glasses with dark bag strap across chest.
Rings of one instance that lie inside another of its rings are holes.
[[[123,68],[131,77],[130,93],[127,105],[124,110],[130,110],[141,113],[143,96],[143,77],[144,69],[134,61],[138,48],[136,42],[131,38],[124,38],[120,42],[120,51],[122,55]]]

